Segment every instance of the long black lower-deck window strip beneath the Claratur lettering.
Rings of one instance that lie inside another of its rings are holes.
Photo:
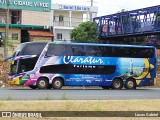
[[[65,69],[64,69],[65,68]],[[114,65],[49,65],[40,69],[40,73],[59,73],[59,74],[113,74],[116,66]]]

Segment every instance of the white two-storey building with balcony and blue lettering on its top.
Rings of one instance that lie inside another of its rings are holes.
[[[70,41],[72,29],[80,23],[97,16],[98,8],[93,6],[53,4],[54,40]]]

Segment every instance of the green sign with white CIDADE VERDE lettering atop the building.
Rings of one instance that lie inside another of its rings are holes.
[[[0,0],[0,8],[7,8],[7,1],[9,1],[9,8],[16,10],[33,10],[50,12],[51,0]]]

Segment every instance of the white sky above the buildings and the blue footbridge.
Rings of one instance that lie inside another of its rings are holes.
[[[90,6],[90,0],[52,0],[54,4]],[[94,6],[98,7],[98,16],[117,13],[117,11],[135,10],[155,5],[160,5],[160,0],[94,0]]]

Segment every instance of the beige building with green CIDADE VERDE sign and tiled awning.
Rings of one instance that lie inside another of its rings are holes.
[[[0,1],[0,39],[5,39],[7,0]],[[18,44],[29,41],[51,41],[53,12],[51,0],[11,0],[9,4],[10,51]],[[2,48],[1,48],[2,49]],[[2,54],[2,50],[1,53]],[[9,53],[9,55],[12,53]]]

